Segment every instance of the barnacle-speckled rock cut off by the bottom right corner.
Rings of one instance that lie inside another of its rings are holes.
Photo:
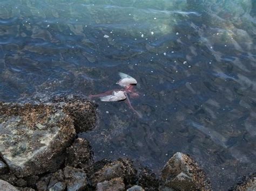
[[[244,176],[241,181],[237,183],[230,190],[240,191],[240,190],[256,190],[256,173],[249,176]]]

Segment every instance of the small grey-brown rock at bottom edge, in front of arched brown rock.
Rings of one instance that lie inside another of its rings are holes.
[[[109,181],[97,183],[97,191],[123,191],[125,188],[122,178],[114,178]]]

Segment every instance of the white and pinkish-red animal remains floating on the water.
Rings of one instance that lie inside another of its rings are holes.
[[[132,107],[130,98],[128,96],[128,94],[131,97],[139,96],[139,94],[133,89],[134,85],[137,84],[137,81],[133,77],[122,72],[119,72],[118,74],[121,79],[116,84],[123,87],[123,89],[106,91],[102,94],[89,95],[89,97],[100,97],[100,100],[103,102],[117,102],[125,100],[129,107],[141,118],[142,115]]]

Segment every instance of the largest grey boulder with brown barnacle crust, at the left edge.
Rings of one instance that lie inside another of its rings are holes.
[[[62,101],[39,105],[0,102],[0,155],[18,177],[55,172],[65,160],[64,151],[76,129],[92,128],[94,104]]]

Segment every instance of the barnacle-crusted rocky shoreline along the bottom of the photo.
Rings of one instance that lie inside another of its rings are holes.
[[[177,152],[157,177],[127,158],[93,160],[97,105],[76,96],[44,104],[0,102],[1,190],[212,190],[190,155]],[[230,190],[255,190],[256,174]]]

